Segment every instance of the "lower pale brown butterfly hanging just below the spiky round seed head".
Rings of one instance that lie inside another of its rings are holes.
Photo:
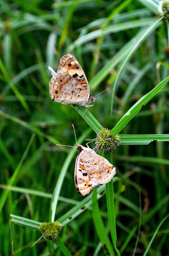
[[[75,187],[80,195],[88,195],[97,185],[103,185],[116,174],[116,167],[89,147],[77,144]]]

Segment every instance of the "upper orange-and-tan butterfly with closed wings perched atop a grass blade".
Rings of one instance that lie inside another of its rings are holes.
[[[90,94],[85,73],[77,59],[70,53],[60,59],[57,73],[49,83],[49,94],[53,101],[62,104],[77,104],[89,108],[96,98]]]

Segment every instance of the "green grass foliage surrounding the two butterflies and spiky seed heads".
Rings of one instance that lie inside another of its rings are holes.
[[[0,0],[0,255],[168,255],[168,31],[156,0]],[[49,96],[48,66],[67,53],[92,96],[110,87],[85,117]],[[113,182],[85,198],[77,149],[55,146],[75,145],[72,124],[83,145],[101,126],[121,136]],[[10,214],[26,227],[9,225]],[[59,239],[31,247],[41,237],[31,225],[51,220]]]

